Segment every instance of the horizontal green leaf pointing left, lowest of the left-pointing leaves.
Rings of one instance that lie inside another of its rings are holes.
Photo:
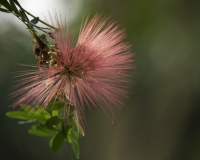
[[[31,129],[28,130],[28,133],[35,136],[48,137],[54,136],[56,133],[58,133],[58,130],[53,127],[34,125],[31,127]]]

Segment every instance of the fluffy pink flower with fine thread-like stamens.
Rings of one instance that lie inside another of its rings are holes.
[[[100,106],[113,114],[113,106],[123,105],[132,83],[134,54],[131,45],[122,42],[124,30],[95,15],[82,24],[73,46],[69,28],[64,34],[56,20],[59,31],[52,34],[55,46],[48,52],[51,60],[48,66],[30,66],[34,69],[18,73],[17,77],[23,78],[12,93],[17,98],[13,106],[24,103],[45,108],[52,98],[58,98],[69,99],[80,113]]]

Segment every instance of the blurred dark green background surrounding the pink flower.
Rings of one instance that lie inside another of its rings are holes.
[[[19,2],[41,19],[54,8],[66,17],[70,13],[70,25],[77,31],[83,15],[111,16],[126,29],[136,53],[135,83],[125,107],[116,111],[118,123],[112,124],[100,109],[86,113],[81,160],[200,159],[200,1]],[[30,125],[5,116],[13,102],[9,72],[22,70],[15,63],[36,63],[31,37],[20,24],[13,15],[0,13],[0,159],[69,159],[67,145],[53,155],[48,138],[29,135]]]

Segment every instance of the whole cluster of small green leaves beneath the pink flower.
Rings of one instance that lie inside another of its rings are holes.
[[[64,142],[69,143],[78,159],[80,156],[79,135],[84,136],[84,131],[78,121],[78,113],[74,110],[74,107],[69,104],[63,106],[65,104],[54,103],[54,106],[50,104],[44,109],[41,106],[31,107],[21,104],[21,111],[10,111],[6,113],[6,116],[23,120],[19,122],[20,124],[39,122],[28,130],[29,134],[51,137],[49,144],[52,153],[56,153]]]

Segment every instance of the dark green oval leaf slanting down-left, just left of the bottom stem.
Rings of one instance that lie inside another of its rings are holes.
[[[52,152],[56,153],[62,146],[64,141],[65,141],[65,134],[62,129],[60,132],[56,134],[56,136],[52,140],[52,145],[51,145]]]

